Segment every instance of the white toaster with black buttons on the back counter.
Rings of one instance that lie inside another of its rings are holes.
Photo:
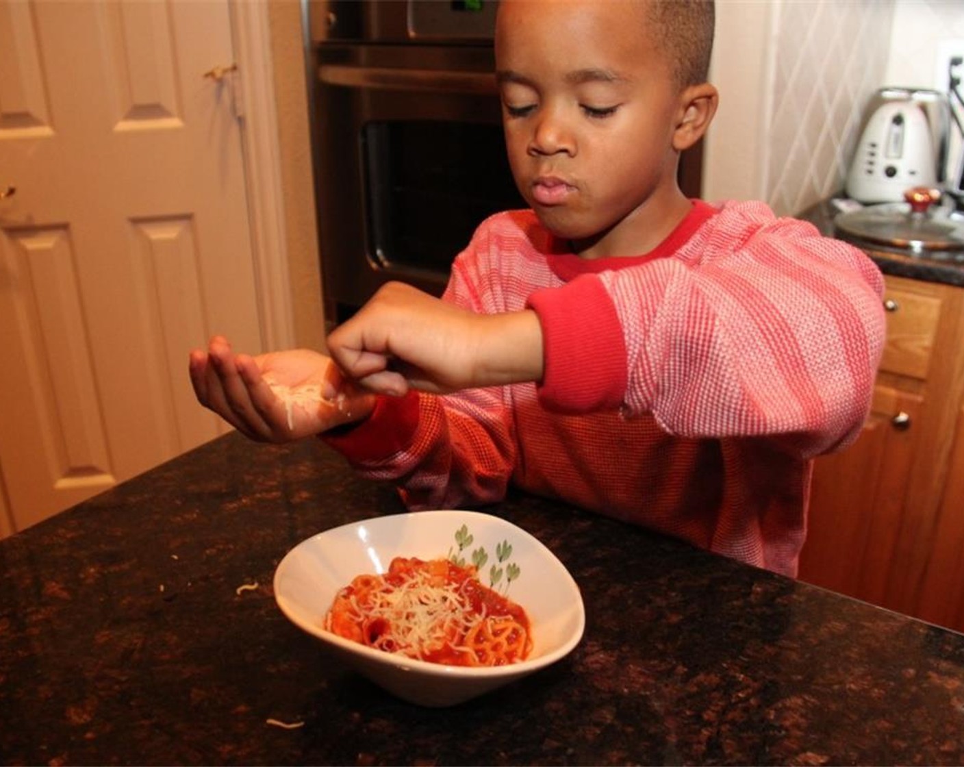
[[[939,91],[882,88],[846,178],[846,194],[860,203],[895,203],[915,186],[944,180],[951,105]]]

